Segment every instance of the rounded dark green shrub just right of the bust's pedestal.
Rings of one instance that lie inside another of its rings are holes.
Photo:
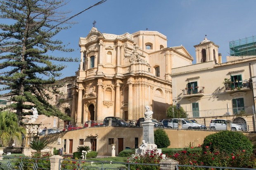
[[[154,131],[154,141],[158,148],[167,148],[171,144],[167,133],[161,128]]]

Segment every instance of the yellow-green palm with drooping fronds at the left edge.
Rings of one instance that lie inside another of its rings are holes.
[[[0,144],[7,147],[15,138],[21,141],[21,134],[25,134],[24,127],[20,127],[18,117],[15,113],[4,111],[0,112]]]

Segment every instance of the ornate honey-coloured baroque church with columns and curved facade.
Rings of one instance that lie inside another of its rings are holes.
[[[113,35],[92,28],[80,37],[80,68],[73,89],[72,124],[107,116],[137,120],[145,106],[164,119],[172,105],[171,69],[191,65],[185,47],[167,47],[157,31]]]

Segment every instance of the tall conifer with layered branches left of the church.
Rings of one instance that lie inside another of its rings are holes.
[[[50,105],[46,91],[56,91],[63,65],[54,61],[74,61],[48,55],[48,51],[73,51],[66,49],[54,36],[69,28],[65,13],[59,12],[63,0],[0,0],[0,97],[10,97],[13,104],[4,109],[17,110],[19,119],[33,107],[40,114],[70,120]],[[65,25],[64,25],[65,24]]]

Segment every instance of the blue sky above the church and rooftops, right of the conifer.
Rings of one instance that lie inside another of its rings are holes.
[[[64,10],[76,14],[98,1],[70,0]],[[158,31],[167,36],[168,47],[182,44],[194,58],[193,46],[207,35],[220,46],[218,52],[225,62],[230,41],[256,35],[255,6],[256,0],[107,0],[73,18],[77,24],[57,35],[75,51],[54,54],[80,58],[79,37],[88,35],[95,20],[101,33],[121,35],[146,28]],[[79,67],[79,63],[64,65],[68,67],[61,78],[75,75]]]

